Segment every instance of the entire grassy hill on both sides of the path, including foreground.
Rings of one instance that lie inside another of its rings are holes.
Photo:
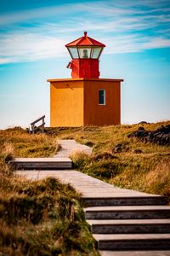
[[[20,127],[0,131],[0,252],[3,255],[98,255],[79,195],[54,178],[27,181],[16,177],[7,161],[13,157],[47,157],[58,139],[76,139],[93,154],[74,152],[75,168],[116,186],[170,198],[170,146],[128,137],[140,126],[47,128],[30,135]]]

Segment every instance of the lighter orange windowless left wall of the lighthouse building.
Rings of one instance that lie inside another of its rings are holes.
[[[50,81],[50,125],[83,125],[83,81]]]

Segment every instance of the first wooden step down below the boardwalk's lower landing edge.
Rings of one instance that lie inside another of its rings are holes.
[[[170,218],[168,206],[123,206],[84,208],[87,219]]]

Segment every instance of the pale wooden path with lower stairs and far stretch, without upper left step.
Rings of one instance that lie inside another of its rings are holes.
[[[72,150],[91,152],[91,148],[77,145],[73,140],[59,143],[62,148],[55,159],[68,157]],[[57,177],[80,192],[87,205],[84,209],[86,219],[102,256],[170,255],[170,207],[164,206],[163,196],[116,188],[74,170],[22,170],[17,173],[31,179]]]

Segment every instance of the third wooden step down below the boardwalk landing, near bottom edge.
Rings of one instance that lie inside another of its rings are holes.
[[[94,234],[99,250],[169,250],[170,234]]]

